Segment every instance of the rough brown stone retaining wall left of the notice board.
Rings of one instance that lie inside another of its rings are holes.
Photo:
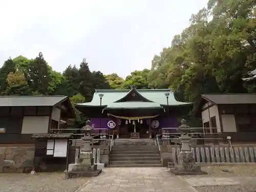
[[[27,173],[33,167],[32,146],[0,147],[0,173]]]

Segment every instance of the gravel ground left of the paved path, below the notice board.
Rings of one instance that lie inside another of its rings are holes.
[[[73,192],[88,179],[64,179],[63,173],[0,174],[0,192]]]

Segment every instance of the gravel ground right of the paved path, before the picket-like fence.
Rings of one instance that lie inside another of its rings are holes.
[[[246,177],[256,177],[256,165],[233,165],[233,166],[202,166],[201,169],[208,175],[182,176],[189,177],[235,177],[240,178],[240,185],[223,186],[195,186],[199,192],[256,192],[255,179],[250,180]]]

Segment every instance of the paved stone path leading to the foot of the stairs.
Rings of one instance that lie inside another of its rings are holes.
[[[183,179],[163,167],[104,168],[104,172],[84,184],[79,192],[196,192]]]

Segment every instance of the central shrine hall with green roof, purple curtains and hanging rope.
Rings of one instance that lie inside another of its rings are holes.
[[[96,90],[91,102],[75,107],[91,118],[95,130],[117,138],[153,138],[163,127],[178,127],[191,103],[177,101],[170,89]]]

